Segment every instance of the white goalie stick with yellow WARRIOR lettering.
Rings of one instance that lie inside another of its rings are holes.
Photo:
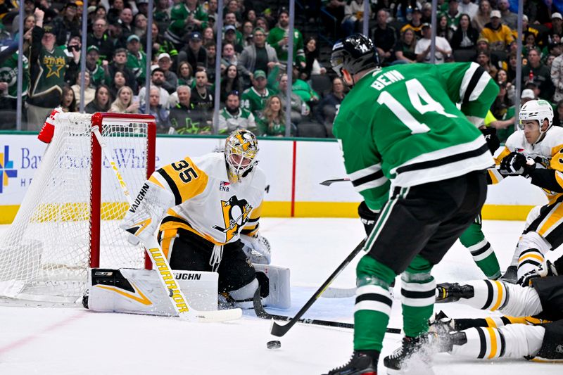
[[[106,149],[106,144],[103,141],[99,127],[92,127],[91,131],[96,136],[103,155],[108,159],[111,165],[111,169],[115,174],[115,178],[118,179],[118,183],[121,186],[125,198],[129,205],[132,205],[132,198],[129,194],[129,189],[127,189],[127,184],[123,181],[121,173],[118,166],[113,162],[111,155]],[[144,245],[146,246],[146,252],[151,257],[153,265],[157,271],[158,279],[160,284],[166,291],[166,295],[170,298],[170,303],[178,313],[178,317],[182,320],[189,320],[191,322],[224,322],[227,320],[239,319],[242,316],[242,310],[239,308],[229,309],[229,310],[215,310],[215,311],[198,311],[190,307],[186,296],[179,288],[177,282],[175,281],[172,269],[170,269],[170,264],[163,253],[162,248],[156,241],[156,238],[151,234],[148,239],[142,239]]]

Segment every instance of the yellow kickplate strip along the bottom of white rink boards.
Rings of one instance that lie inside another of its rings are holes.
[[[76,205],[80,206],[79,203]],[[533,207],[533,205],[484,205],[481,213],[484,220],[526,220]],[[0,205],[0,224],[11,224],[19,208],[19,205]],[[125,215],[125,208],[113,212],[122,212],[121,215]],[[86,216],[84,215],[82,220],[88,220],[89,217]],[[291,202],[266,201],[263,203],[260,217],[291,217]],[[358,217],[358,202],[296,202],[295,217]],[[122,217],[108,217],[107,220],[120,218]]]

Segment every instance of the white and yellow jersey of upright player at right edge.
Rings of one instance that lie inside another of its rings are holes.
[[[555,170],[555,179],[557,183],[563,187],[563,128],[551,127],[545,133],[543,139],[536,144],[529,144],[526,141],[523,130],[518,130],[511,134],[505,144],[505,148],[495,158],[495,162],[500,164],[500,160],[505,158],[511,152],[519,152],[536,161],[536,167],[543,166],[550,170]],[[500,181],[500,173],[493,173],[489,170],[489,175],[493,179],[493,183]],[[496,180],[496,181],[495,181]],[[561,196],[561,193],[555,193],[543,189],[550,202],[555,201]]]

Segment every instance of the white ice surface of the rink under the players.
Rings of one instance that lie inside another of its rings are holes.
[[[483,231],[504,270],[523,222],[485,221]],[[6,227],[0,226],[0,231]],[[292,307],[270,310],[293,315],[362,239],[358,220],[263,219],[262,235],[272,243],[272,264],[291,268]],[[407,230],[407,229],[405,229]],[[390,249],[393,251],[393,249]],[[553,259],[560,249],[551,253]],[[359,258],[358,258],[359,259]],[[355,262],[333,286],[355,284]],[[456,243],[434,269],[436,281],[480,279],[469,252]],[[396,293],[396,295],[398,295]],[[354,298],[320,298],[305,317],[352,322]],[[489,314],[456,304],[438,305],[453,317]],[[393,305],[390,326],[400,328],[400,303]],[[76,308],[0,307],[0,374],[323,374],[348,361],[350,329],[296,324],[267,350],[270,322],[252,311],[228,323],[180,322],[175,318],[96,314]],[[388,334],[383,355],[394,350],[400,335]],[[380,361],[379,373],[385,374]],[[562,374],[561,364],[526,360],[462,360],[437,355],[436,375]]]

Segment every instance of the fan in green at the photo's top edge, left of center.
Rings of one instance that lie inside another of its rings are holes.
[[[184,35],[207,27],[208,14],[203,6],[198,4],[198,0],[184,0],[172,6],[170,21],[165,36],[174,43],[176,49],[180,49],[184,45]]]

